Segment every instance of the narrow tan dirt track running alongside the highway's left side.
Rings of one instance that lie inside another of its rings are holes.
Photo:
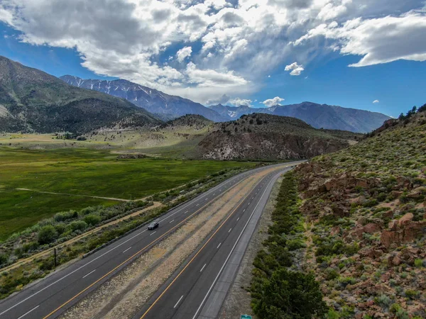
[[[73,242],[77,242],[77,240],[81,240],[82,238],[84,238],[84,237],[86,237],[88,235],[92,235],[93,233],[99,232],[99,230],[102,230],[103,228],[109,227],[111,225],[115,225],[116,223],[120,223],[121,221],[126,220],[128,218],[131,218],[133,216],[138,216],[139,214],[145,213],[146,211],[151,211],[151,209],[160,207],[162,205],[163,205],[162,203],[158,203],[157,201],[155,201],[152,206],[148,206],[146,208],[143,208],[143,209],[141,209],[141,211],[136,211],[134,213],[126,215],[126,216],[124,216],[122,218],[119,218],[117,220],[113,220],[110,223],[106,223],[106,224],[101,225],[101,226],[99,226],[97,228],[89,230],[88,232],[83,233],[82,235],[78,235],[77,237],[74,237],[74,238],[72,238],[70,240],[67,240],[66,242],[62,242],[60,245],[56,245],[54,247],[51,247],[48,250],[44,250],[43,252],[38,252],[37,254],[33,254],[31,257],[21,259],[18,262],[15,262],[14,264],[11,264],[9,267],[5,267],[5,268],[1,269],[1,272],[9,272],[9,270],[15,269],[16,267],[20,267],[23,264],[26,264],[28,262],[32,262],[34,259],[37,259],[37,258],[40,258],[40,257],[45,257],[48,254],[52,254],[52,251],[53,251],[54,248],[59,249],[61,247],[70,245]]]

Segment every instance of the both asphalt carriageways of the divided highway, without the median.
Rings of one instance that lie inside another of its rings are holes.
[[[135,230],[89,257],[55,271],[36,284],[31,284],[19,293],[0,301],[0,319],[57,318],[240,181],[271,167],[281,168],[280,171],[283,171],[283,164],[278,164],[231,177],[204,194],[165,213],[160,218],[160,227],[156,230]],[[143,318],[192,318],[187,314],[197,315],[195,310],[202,305],[202,298],[205,296],[203,293],[207,293],[209,287],[214,284],[212,280],[216,278],[218,268],[221,268],[219,265],[221,262],[223,264],[226,257],[232,253],[234,243],[251,218],[251,212],[258,205],[259,200],[269,196],[272,180],[277,172],[275,170],[263,177],[224,223],[219,224],[217,230],[207,237],[205,245],[193,254],[194,258],[182,266],[185,267],[182,274],[172,276],[142,308],[137,318],[142,316]],[[266,189],[268,186],[269,191]],[[197,274],[197,276],[192,278],[190,274]],[[173,281],[173,284],[168,287],[170,281]],[[197,289],[199,293],[192,293]],[[159,294],[161,294],[160,298],[158,298]],[[167,298],[164,298],[166,295]]]

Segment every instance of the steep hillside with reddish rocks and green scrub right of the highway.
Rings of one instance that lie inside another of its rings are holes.
[[[295,177],[328,318],[426,318],[426,106]]]

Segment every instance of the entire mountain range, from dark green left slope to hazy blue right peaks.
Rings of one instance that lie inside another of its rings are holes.
[[[0,57],[2,131],[85,133],[117,125],[121,128],[158,125],[186,114],[225,122],[251,113],[290,116],[314,128],[359,133],[370,132],[389,119],[381,113],[311,102],[269,108],[221,104],[205,107],[124,79],[84,80],[70,75],[58,79]]]

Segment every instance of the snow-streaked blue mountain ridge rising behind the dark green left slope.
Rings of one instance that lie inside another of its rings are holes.
[[[136,106],[145,108],[151,113],[175,117],[186,114],[198,114],[214,122],[226,121],[226,118],[220,116],[216,111],[206,108],[200,103],[183,99],[180,96],[168,95],[124,79],[106,81],[99,79],[80,79],[80,77],[73,77],[72,75],[64,75],[60,79],[67,84],[83,89],[118,96],[130,101]]]

